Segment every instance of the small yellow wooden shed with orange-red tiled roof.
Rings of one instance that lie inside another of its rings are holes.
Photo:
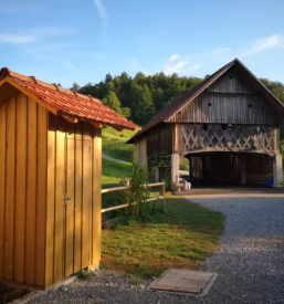
[[[0,280],[46,289],[101,260],[98,99],[0,71]]]

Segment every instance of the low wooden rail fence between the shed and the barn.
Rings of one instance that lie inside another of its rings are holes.
[[[145,185],[144,187],[145,187],[145,188],[152,188],[152,187],[157,187],[157,186],[162,186],[162,196],[159,196],[159,197],[157,197],[157,198],[149,198],[149,199],[146,199],[145,202],[164,199],[164,211],[165,211],[165,208],[166,208],[165,181],[162,181],[162,182],[155,182],[155,184],[147,184],[147,185]],[[108,193],[108,192],[114,192],[114,191],[127,190],[127,189],[129,189],[129,188],[130,188],[130,186],[124,186],[124,187],[115,187],[115,188],[102,189],[102,195],[103,195],[103,193]],[[136,205],[137,205],[137,202],[133,202],[133,203],[132,203],[132,206],[136,206]],[[113,211],[113,210],[117,210],[117,209],[127,208],[127,207],[129,207],[129,203],[124,203],[124,205],[118,205],[118,206],[105,208],[105,209],[102,209],[102,213],[105,213],[105,212],[108,212],[108,211]],[[137,206],[137,213],[138,213],[138,206]]]

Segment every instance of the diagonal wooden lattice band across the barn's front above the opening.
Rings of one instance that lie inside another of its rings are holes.
[[[272,126],[181,124],[178,153],[278,153],[277,129]]]

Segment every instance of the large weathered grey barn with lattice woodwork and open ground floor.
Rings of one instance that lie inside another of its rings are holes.
[[[180,157],[193,181],[282,186],[280,126],[284,105],[238,59],[149,120],[128,143],[140,164],[169,159],[172,182]],[[168,157],[168,158],[167,158]]]

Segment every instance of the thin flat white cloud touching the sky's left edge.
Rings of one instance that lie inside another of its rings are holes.
[[[0,32],[0,42],[11,44],[33,44],[36,41],[48,36],[62,35],[67,33],[70,33],[70,30],[65,28],[38,28],[18,33]]]

